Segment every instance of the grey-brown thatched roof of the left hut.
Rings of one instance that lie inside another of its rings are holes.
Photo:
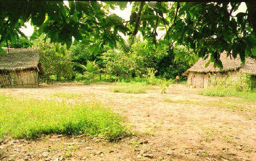
[[[3,48],[6,52],[7,48]],[[24,70],[37,68],[39,54],[33,49],[12,49],[9,53],[0,53],[0,70]]]

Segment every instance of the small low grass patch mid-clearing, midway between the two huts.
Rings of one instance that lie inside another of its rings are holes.
[[[117,83],[110,88],[110,91],[115,93],[146,93],[146,90],[150,89],[150,86],[145,83]]]

